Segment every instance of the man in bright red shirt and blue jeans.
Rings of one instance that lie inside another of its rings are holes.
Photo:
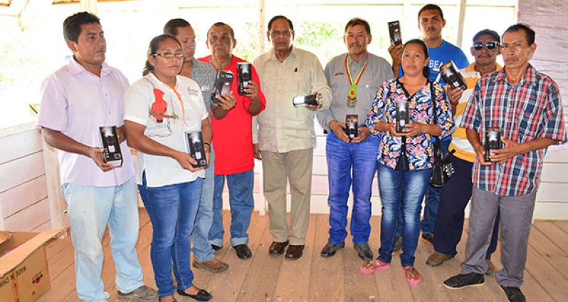
[[[221,95],[223,103],[234,103],[213,108],[213,145],[215,147],[215,189],[213,197],[213,224],[209,231],[209,241],[214,249],[223,246],[223,187],[227,179],[229,204],[231,206],[231,246],[240,259],[251,258],[248,248],[248,224],[254,207],[254,157],[252,120],[265,108],[266,100],[260,89],[258,75],[251,66],[252,80],[245,88],[246,95],[238,94],[237,63],[246,62],[233,56],[236,45],[231,26],[222,22],[213,24],[207,31],[207,48],[211,56],[199,58],[199,61],[211,63],[216,71],[231,71],[234,75],[231,91]],[[247,62],[248,63],[248,62]],[[236,101],[236,103],[235,103]],[[222,119],[221,119],[222,118]]]

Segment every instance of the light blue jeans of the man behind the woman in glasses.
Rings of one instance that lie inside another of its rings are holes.
[[[201,199],[199,199],[199,207],[197,208],[194,231],[191,233],[191,241],[194,244],[191,251],[194,252],[195,259],[201,262],[209,261],[215,257],[215,252],[211,249],[211,244],[209,243],[209,229],[211,229],[211,224],[213,223],[214,162],[215,151],[213,150],[213,145],[211,145],[209,167],[205,169]]]

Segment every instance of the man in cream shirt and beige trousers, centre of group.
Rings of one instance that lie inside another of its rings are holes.
[[[310,220],[315,110],[330,106],[331,90],[317,57],[292,45],[294,27],[290,19],[270,19],[266,36],[273,48],[254,61],[268,100],[266,110],[258,115],[255,156],[263,162],[263,190],[273,235],[269,253],[279,256],[285,251],[286,259],[295,260],[303,255]],[[317,105],[293,105],[293,98],[306,95],[318,95]],[[292,195],[290,227],[286,218],[287,182]]]

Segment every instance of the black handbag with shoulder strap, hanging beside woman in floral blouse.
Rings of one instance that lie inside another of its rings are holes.
[[[432,98],[432,111],[433,120],[436,123],[436,95],[433,90],[433,83],[430,82],[430,97]],[[432,165],[432,175],[430,176],[430,184],[432,187],[441,188],[448,182],[453,175],[453,165],[449,160],[449,155],[453,154],[456,150],[452,150],[448,156],[444,157],[440,137],[432,136],[435,138],[433,143],[434,163]]]

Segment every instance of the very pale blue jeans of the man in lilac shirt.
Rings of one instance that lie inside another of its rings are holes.
[[[109,294],[100,278],[100,240],[108,224],[110,249],[116,266],[116,287],[129,293],[143,285],[135,245],[140,219],[134,178],[116,187],[64,183],[71,242],[75,254],[77,294],[82,301],[106,301]]]

